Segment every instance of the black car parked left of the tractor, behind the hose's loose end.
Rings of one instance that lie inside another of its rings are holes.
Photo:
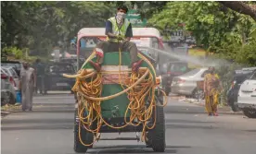
[[[55,62],[46,66],[45,88],[47,90],[71,90],[75,78],[63,77],[63,74],[75,74],[75,68],[70,63]]]

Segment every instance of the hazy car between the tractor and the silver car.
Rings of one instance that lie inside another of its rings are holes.
[[[186,62],[175,61],[165,64],[163,69],[166,70],[165,74],[162,76],[163,89],[165,90],[166,94],[169,95],[172,90],[171,86],[173,77],[178,77],[185,74],[189,71],[189,68]]]

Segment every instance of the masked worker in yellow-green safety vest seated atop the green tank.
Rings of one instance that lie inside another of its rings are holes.
[[[129,52],[131,55],[132,70],[137,71],[142,61],[138,61],[136,44],[131,40],[133,37],[132,24],[125,18],[128,8],[119,6],[115,17],[109,18],[106,22],[107,41],[101,41],[96,46],[97,62],[90,61],[97,71],[100,71],[103,63],[104,53]]]

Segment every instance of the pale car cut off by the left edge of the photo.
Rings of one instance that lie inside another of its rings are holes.
[[[1,68],[1,105],[15,104],[16,102],[16,91],[9,78],[6,71]]]

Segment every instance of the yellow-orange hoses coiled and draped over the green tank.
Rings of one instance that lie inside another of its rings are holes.
[[[147,60],[145,56],[138,53],[138,56],[143,59],[147,65],[151,67],[152,73],[149,71],[147,67],[140,67],[138,72],[127,71],[125,73],[130,74],[124,83],[121,81],[121,64],[122,64],[122,54],[120,53],[120,65],[119,65],[119,82],[122,86],[122,91],[113,94],[107,97],[101,97],[101,92],[103,88],[102,76],[104,74],[111,74],[117,72],[109,72],[109,71],[101,71],[96,73],[93,69],[81,69],[77,75],[66,75],[64,77],[75,77],[76,82],[73,86],[72,90],[77,93],[78,99],[78,117],[80,120],[79,123],[79,139],[83,146],[92,146],[94,142],[91,144],[84,144],[81,137],[81,126],[85,128],[87,131],[94,133],[96,141],[98,138],[98,133],[101,125],[106,124],[113,129],[122,129],[127,125],[143,125],[143,131],[141,140],[144,141],[146,138],[146,131],[148,129],[153,129],[156,124],[156,96],[155,89],[157,88],[157,77],[156,72],[151,65],[151,63]],[[90,57],[84,62],[83,65],[87,64],[89,60],[95,57],[96,53],[92,53]],[[82,66],[83,67],[83,66]],[[163,90],[160,89],[163,96],[165,97],[165,102],[163,106],[167,104],[167,96]],[[124,118],[125,124],[122,126],[113,126],[105,121],[101,114],[101,102],[114,99],[122,94],[126,93],[130,103],[127,106],[124,117],[128,117],[127,114],[130,111],[130,120],[128,121]],[[148,99],[149,98],[149,99]],[[84,116],[84,112],[86,111],[86,116]],[[150,120],[152,115],[154,124],[152,126],[148,126],[147,122]],[[94,124],[94,126],[93,126]],[[96,124],[96,126],[95,126]],[[94,127],[94,128],[92,128]]]

